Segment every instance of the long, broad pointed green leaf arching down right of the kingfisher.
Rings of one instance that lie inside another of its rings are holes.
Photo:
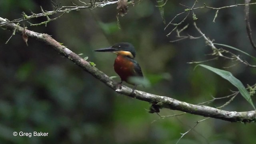
[[[252,102],[252,98],[250,97],[249,92],[246,90],[246,88],[244,87],[244,85],[242,84],[242,82],[240,80],[238,80],[237,78],[235,78],[231,72],[228,72],[226,70],[220,70],[218,68],[213,68],[211,66],[206,66],[204,64],[199,64],[197,66],[202,66],[204,68],[207,68],[208,70],[218,74],[219,76],[221,76],[222,78],[228,80],[231,84],[233,84],[234,86],[236,86],[236,88],[238,88],[239,92],[242,94],[242,96],[252,105],[252,107],[255,109],[254,104]],[[196,66],[196,67],[197,67]]]

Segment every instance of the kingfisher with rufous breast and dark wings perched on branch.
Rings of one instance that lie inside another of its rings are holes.
[[[127,82],[128,84],[132,84],[134,85],[132,92],[134,92],[139,83],[132,82],[131,78],[143,78],[140,65],[136,60],[134,60],[136,56],[134,46],[128,42],[121,42],[109,48],[102,48],[94,51],[114,52],[117,54],[116,60],[114,62],[114,70],[121,78],[121,82],[118,84],[122,84],[123,81]]]

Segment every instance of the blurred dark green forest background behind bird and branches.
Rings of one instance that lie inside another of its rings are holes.
[[[70,0],[59,0],[63,6],[72,5]],[[74,1],[78,4],[77,1]],[[221,7],[243,3],[242,0],[199,0],[197,6]],[[164,6],[164,18],[170,22],[176,14],[192,6],[193,0],[171,1]],[[176,39],[175,32],[166,37],[174,27],[164,30],[165,24],[157,2],[142,0],[129,6],[128,14],[116,20],[116,4],[104,8],[84,9],[64,14],[58,20],[49,22],[47,27],[29,26],[29,30],[52,35],[76,54],[83,53],[88,61],[108,76],[117,76],[113,69],[115,54],[96,53],[93,50],[106,48],[118,42],[130,42],[136,48],[136,60],[144,75],[152,83],[150,88],[139,90],[153,94],[170,96],[181,101],[198,104],[211,100],[212,96],[222,97],[237,90],[228,81],[204,68],[196,68],[191,61],[213,58],[206,56],[211,49],[205,41]],[[13,20],[22,17],[22,12],[30,14],[52,10],[50,0],[0,0],[0,16]],[[255,37],[256,6],[250,7],[250,22]],[[216,43],[227,44],[255,56],[246,35],[244,7],[222,9],[216,23],[212,20],[215,10],[206,8],[195,10],[198,27]],[[180,22],[180,15],[174,22]],[[53,18],[53,17],[51,17]],[[40,23],[46,18],[30,20]],[[182,34],[200,36],[192,26],[192,15],[188,16],[182,28],[190,24]],[[0,30],[0,143],[19,144],[173,144],[193,127],[202,116],[184,114],[182,116],[158,119],[157,114],[148,113],[150,104],[116,94],[99,80],[84,72],[70,60],[42,42],[28,38],[28,47],[20,35],[6,40],[12,32]],[[232,51],[233,52],[233,51]],[[236,53],[236,52],[234,52]],[[240,54],[240,53],[239,53]],[[255,64],[241,54],[241,58]],[[204,64],[224,69],[238,62],[223,58]],[[256,69],[238,64],[228,69],[244,85],[255,84]],[[115,78],[119,81],[119,78]],[[128,84],[126,84],[128,85]],[[130,85],[128,85],[130,86]],[[256,99],[252,97],[255,101]],[[228,99],[218,100],[209,106],[220,106]],[[249,111],[252,107],[238,95],[224,110]],[[163,109],[160,115],[181,112]],[[156,120],[155,122],[153,122]],[[16,132],[48,132],[47,137],[14,137]],[[255,124],[231,123],[213,118],[201,122],[186,134],[179,144],[254,144]]]

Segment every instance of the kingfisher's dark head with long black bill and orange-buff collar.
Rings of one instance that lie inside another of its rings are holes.
[[[134,46],[128,42],[121,42],[111,46],[110,48],[102,48],[98,50],[94,50],[95,52],[114,52],[117,55],[127,56],[129,58],[134,59],[136,56],[136,52]]]

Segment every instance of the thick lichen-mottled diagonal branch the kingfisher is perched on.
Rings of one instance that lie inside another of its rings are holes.
[[[0,22],[6,22],[6,19],[0,17]],[[22,35],[22,32],[24,30],[24,28],[14,23],[6,24],[4,26],[1,26],[1,28],[11,31],[16,30],[16,34],[20,35]],[[92,66],[89,62],[87,62],[86,60],[84,60],[83,58],[81,58],[65,46],[61,45],[48,34],[33,32],[27,29],[26,34],[30,38],[34,38],[36,40],[44,42],[47,45],[50,45],[58,53],[62,54],[63,56],[74,62],[76,65],[80,66],[86,72],[90,73],[92,76],[94,76],[95,78],[97,78],[98,80],[100,80],[116,92],[124,94],[126,96],[130,96],[132,98],[136,98],[138,100],[143,100],[152,103],[151,108],[154,107],[155,109],[168,108],[171,110],[180,110],[190,114],[212,117],[230,122],[255,122],[256,120],[256,110],[248,112],[229,112],[225,110],[220,110],[218,108],[213,108],[210,106],[198,106],[194,104],[189,104],[187,102],[175,100],[167,96],[158,96],[155,94],[150,94],[139,90],[135,90],[134,93],[132,93],[132,88],[129,88],[127,86],[122,86],[122,88],[119,89],[117,82],[114,82],[106,74],[98,70],[96,67]]]

